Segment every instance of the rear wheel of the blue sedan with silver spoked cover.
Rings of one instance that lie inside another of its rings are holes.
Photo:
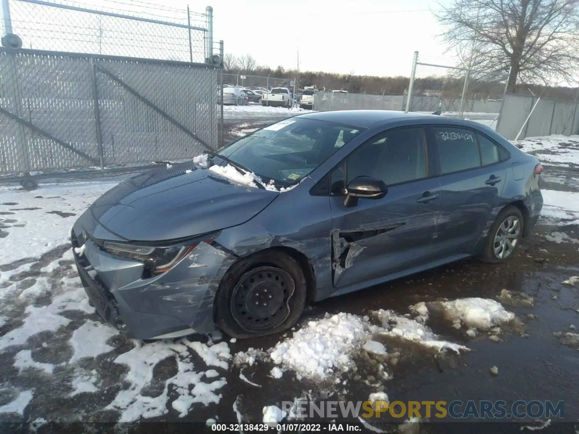
[[[523,215],[513,205],[504,207],[486,236],[481,259],[484,262],[504,262],[514,255],[523,234]]]

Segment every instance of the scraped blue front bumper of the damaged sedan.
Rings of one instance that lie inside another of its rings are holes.
[[[78,225],[75,225],[78,230]],[[201,242],[173,269],[142,278],[142,264],[110,255],[93,241],[71,242],[80,280],[105,321],[133,339],[166,339],[215,329],[213,300],[219,282],[237,259]],[[75,248],[85,245],[82,255]]]

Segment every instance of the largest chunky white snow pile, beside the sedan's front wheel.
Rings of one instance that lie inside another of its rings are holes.
[[[325,378],[353,366],[350,353],[369,338],[368,318],[339,314],[310,321],[291,339],[277,343],[270,357],[309,378]]]

